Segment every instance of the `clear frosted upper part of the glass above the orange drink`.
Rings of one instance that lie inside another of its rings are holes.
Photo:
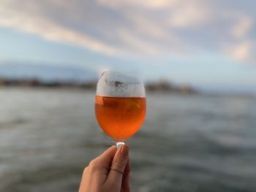
[[[106,71],[99,76],[98,96],[145,97],[143,82],[138,78],[121,72]]]

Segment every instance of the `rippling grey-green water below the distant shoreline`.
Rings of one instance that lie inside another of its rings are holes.
[[[93,92],[0,88],[0,191],[78,191],[110,145]],[[133,191],[256,191],[256,98],[148,93],[128,145]]]

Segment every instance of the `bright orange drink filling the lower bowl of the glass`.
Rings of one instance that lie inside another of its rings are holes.
[[[135,134],[146,115],[145,97],[95,96],[95,115],[99,126],[116,140]]]

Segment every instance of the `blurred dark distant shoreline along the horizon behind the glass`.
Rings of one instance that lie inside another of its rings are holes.
[[[37,79],[10,79],[0,77],[0,88],[50,88],[50,89],[73,89],[95,91],[96,80],[88,82],[78,81],[43,81]],[[146,92],[148,93],[177,93],[184,95],[200,94],[203,96],[236,96],[236,97],[256,97],[256,93],[224,92],[224,91],[202,91],[190,85],[174,85],[168,81],[146,82]]]

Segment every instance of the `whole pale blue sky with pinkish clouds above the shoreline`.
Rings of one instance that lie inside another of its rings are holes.
[[[256,1],[0,0],[0,65],[137,72],[256,92]]]

